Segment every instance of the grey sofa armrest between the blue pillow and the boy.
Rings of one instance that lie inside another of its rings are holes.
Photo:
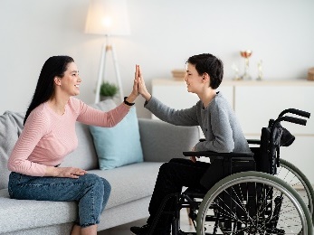
[[[140,141],[145,162],[168,162],[185,157],[199,140],[198,127],[182,127],[161,120],[138,118]]]

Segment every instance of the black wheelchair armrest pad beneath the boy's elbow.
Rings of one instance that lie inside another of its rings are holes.
[[[217,153],[213,151],[188,151],[183,152],[185,156],[205,156],[211,159],[223,159],[224,157],[252,157],[253,153]]]

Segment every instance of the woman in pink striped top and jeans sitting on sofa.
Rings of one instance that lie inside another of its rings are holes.
[[[97,234],[100,213],[108,202],[110,185],[76,167],[60,167],[78,146],[75,122],[113,127],[138,97],[138,83],[119,107],[102,112],[80,99],[81,78],[73,59],[52,56],[43,64],[24,130],[8,161],[10,197],[22,200],[76,201],[79,216],[71,234]]]

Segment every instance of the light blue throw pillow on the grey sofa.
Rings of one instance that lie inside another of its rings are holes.
[[[115,127],[93,127],[90,133],[94,140],[100,170],[108,170],[125,164],[143,162],[136,108]]]

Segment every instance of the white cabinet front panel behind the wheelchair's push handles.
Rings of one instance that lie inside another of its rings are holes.
[[[305,110],[313,116],[306,127],[288,122],[282,125],[294,135],[314,135],[314,82],[244,82],[234,86],[233,108],[248,135],[260,134],[261,127],[284,109]]]

